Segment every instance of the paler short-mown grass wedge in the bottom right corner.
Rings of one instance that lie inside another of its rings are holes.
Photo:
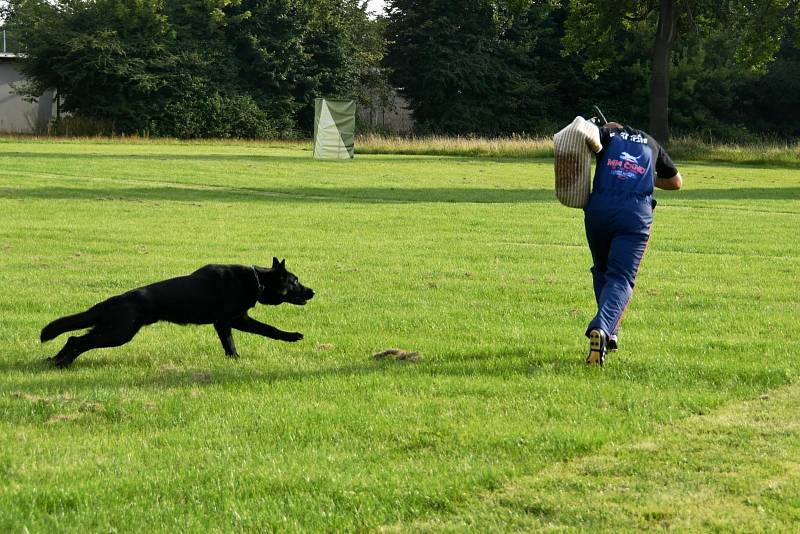
[[[510,481],[413,530],[787,532],[800,522],[800,385]],[[473,522],[472,518],[477,518]]]

